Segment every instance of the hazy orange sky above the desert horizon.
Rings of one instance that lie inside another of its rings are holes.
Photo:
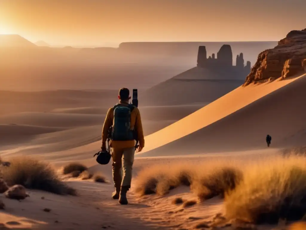
[[[51,45],[280,40],[305,0],[0,0],[0,33]]]

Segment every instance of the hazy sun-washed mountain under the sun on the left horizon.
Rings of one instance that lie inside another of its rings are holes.
[[[0,47],[35,47],[36,45],[18,34],[0,34]]]

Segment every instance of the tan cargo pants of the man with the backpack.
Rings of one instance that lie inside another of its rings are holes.
[[[115,187],[131,187],[132,170],[135,156],[135,147],[132,148],[111,148],[113,159],[112,171]],[[121,168],[123,175],[121,176]]]

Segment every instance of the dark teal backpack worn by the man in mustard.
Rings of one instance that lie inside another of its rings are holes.
[[[128,106],[115,105],[114,121],[111,128],[111,140],[135,140],[134,131],[131,130],[131,112],[135,107],[132,104]]]

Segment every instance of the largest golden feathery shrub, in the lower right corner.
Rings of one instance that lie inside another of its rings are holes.
[[[306,159],[276,158],[249,167],[225,197],[226,217],[253,223],[299,220],[306,213]]]

